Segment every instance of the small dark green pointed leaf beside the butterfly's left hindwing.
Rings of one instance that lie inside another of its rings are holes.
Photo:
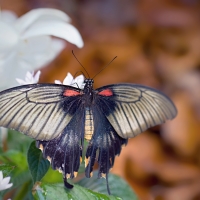
[[[28,165],[33,182],[40,181],[49,168],[49,161],[42,156],[42,152],[36,148],[33,141],[28,150]]]

